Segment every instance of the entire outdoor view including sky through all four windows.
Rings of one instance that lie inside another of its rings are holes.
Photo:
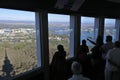
[[[0,80],[11,80],[13,76],[38,67],[35,14],[32,13],[31,16],[31,12],[23,14],[6,9],[0,11]],[[49,61],[51,62],[58,44],[64,46],[67,58],[70,57],[70,33],[73,30],[70,29],[69,16],[49,14],[48,20]],[[106,23],[104,33],[105,36],[112,35],[115,40],[115,25]],[[86,17],[83,20],[82,17],[81,40],[87,38],[94,40],[94,18]],[[87,45],[94,46],[88,41]]]

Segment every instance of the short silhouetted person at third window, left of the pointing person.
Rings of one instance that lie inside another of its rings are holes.
[[[91,77],[91,60],[88,56],[89,48],[86,44],[86,40],[82,40],[82,45],[79,48],[79,61],[83,66],[83,74],[87,77]]]

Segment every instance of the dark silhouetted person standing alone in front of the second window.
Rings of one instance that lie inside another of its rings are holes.
[[[51,80],[66,80],[66,51],[63,45],[57,46],[51,65]]]

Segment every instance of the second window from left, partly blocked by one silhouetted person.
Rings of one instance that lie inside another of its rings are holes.
[[[49,59],[50,62],[57,45],[62,44],[69,57],[70,20],[68,15],[48,14],[49,20]]]

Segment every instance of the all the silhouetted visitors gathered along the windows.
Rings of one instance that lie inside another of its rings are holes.
[[[99,70],[104,72],[102,77],[105,80],[120,80],[120,42],[113,43],[112,36],[106,36],[106,43],[103,43],[101,36],[97,37],[96,42],[89,41],[95,46],[89,50],[86,40],[82,40],[82,45],[79,47],[79,61],[73,61],[70,65],[73,76],[69,78],[67,77],[66,51],[63,45],[57,46],[58,51],[55,52],[50,65],[51,80],[90,80],[92,79],[90,76],[86,76],[89,79],[82,75],[89,68],[93,72],[96,71],[95,75],[85,73],[94,77],[101,77],[99,73],[97,74]],[[91,55],[88,55],[89,51],[92,52]]]

